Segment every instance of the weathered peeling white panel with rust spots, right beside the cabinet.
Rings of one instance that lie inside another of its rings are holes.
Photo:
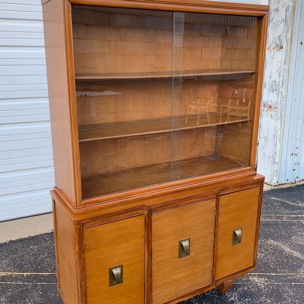
[[[269,5],[257,171],[265,182],[276,185],[280,182],[294,0],[269,0]]]

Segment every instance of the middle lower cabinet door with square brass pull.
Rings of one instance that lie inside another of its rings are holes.
[[[160,304],[212,284],[215,199],[152,215],[152,294]]]

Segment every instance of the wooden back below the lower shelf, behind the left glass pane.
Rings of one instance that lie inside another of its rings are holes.
[[[81,174],[90,176],[171,161],[171,133],[80,143]]]

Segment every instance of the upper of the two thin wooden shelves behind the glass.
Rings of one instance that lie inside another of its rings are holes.
[[[134,72],[134,73],[88,73],[75,74],[76,80],[102,80],[102,79],[141,79],[141,78],[169,78],[169,77],[191,77],[210,75],[252,74],[255,70],[243,69],[206,69],[186,71],[158,71],[158,72]]]

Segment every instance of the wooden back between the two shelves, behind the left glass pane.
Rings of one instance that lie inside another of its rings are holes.
[[[170,79],[77,81],[76,90],[79,126],[172,115]]]

